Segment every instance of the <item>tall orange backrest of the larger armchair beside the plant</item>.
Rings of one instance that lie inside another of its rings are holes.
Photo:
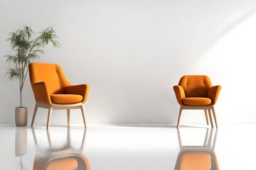
[[[39,98],[43,95],[38,94],[35,88],[36,83],[45,82],[49,94],[65,94],[65,86],[70,85],[58,64],[31,62],[28,69],[36,101],[41,101]]]

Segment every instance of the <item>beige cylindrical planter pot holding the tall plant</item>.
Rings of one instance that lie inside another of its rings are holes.
[[[28,108],[16,107],[15,108],[15,124],[16,126],[26,126],[28,123]]]

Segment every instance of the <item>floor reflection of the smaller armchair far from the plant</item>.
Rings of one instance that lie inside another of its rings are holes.
[[[215,142],[217,138],[217,130],[213,137],[213,129],[206,130],[203,145],[183,145],[181,142],[181,133],[177,129],[178,144],[180,152],[176,160],[175,170],[218,170],[218,161],[214,152]]]

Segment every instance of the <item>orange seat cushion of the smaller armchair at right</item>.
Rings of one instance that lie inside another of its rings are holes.
[[[183,98],[182,103],[186,106],[208,106],[211,103],[210,98],[202,98],[202,97],[190,97]]]

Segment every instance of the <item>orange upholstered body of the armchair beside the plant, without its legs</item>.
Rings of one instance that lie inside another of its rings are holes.
[[[58,64],[32,62],[28,68],[33,94],[37,102],[73,104],[85,103],[87,100],[89,86],[70,84]],[[81,96],[82,99],[78,99]]]

